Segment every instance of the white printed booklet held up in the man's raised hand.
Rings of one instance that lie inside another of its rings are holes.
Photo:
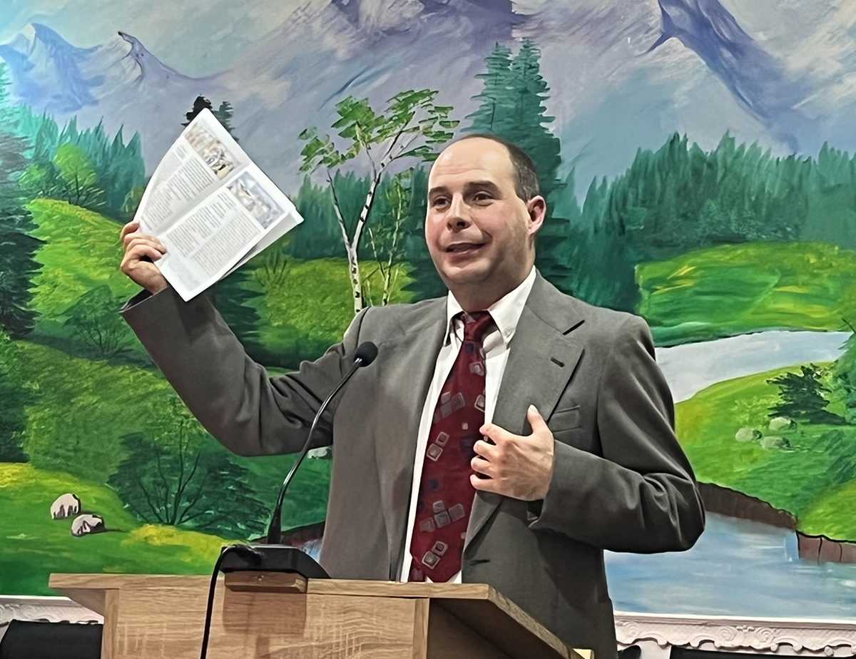
[[[166,246],[158,268],[185,301],[303,222],[211,110],[169,147],[135,219]]]

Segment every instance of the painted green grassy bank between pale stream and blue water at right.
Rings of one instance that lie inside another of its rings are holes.
[[[856,540],[856,480],[835,478],[841,455],[829,450],[824,434],[841,431],[856,442],[856,427],[797,424],[791,430],[769,430],[770,407],[779,388],[767,381],[798,366],[738,377],[699,391],[675,406],[681,445],[696,477],[738,490],[796,515],[800,531],[838,540]],[[830,405],[831,412],[842,413]],[[763,448],[760,442],[738,442],[740,428],[764,436],[782,436],[788,448]]]

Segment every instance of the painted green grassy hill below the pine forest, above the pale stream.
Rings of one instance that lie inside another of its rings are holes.
[[[856,319],[856,252],[745,243],[639,264],[637,311],[659,345],[758,329],[837,330]]]

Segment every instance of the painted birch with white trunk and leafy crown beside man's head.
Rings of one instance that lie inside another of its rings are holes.
[[[306,128],[300,140],[306,141],[300,155],[300,171],[324,169],[333,195],[333,209],[342,230],[342,242],[348,255],[348,277],[354,295],[354,313],[365,306],[360,278],[360,240],[366,231],[384,173],[395,161],[415,158],[427,162],[437,157],[437,148],[452,139],[458,122],[449,119],[450,105],[437,105],[437,90],[408,90],[395,94],[379,113],[367,99],[345,98],[336,104],[339,119],[330,128],[338,131],[336,142],[330,135],[320,137],[317,128]],[[338,142],[338,145],[337,145]],[[340,148],[341,146],[341,148]],[[345,217],[336,195],[336,171],[362,154],[370,166],[366,200],[356,217]]]

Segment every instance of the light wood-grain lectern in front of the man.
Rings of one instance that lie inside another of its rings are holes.
[[[198,659],[209,577],[51,574],[104,616],[102,659]],[[484,584],[306,580],[236,572],[217,584],[211,659],[591,659]]]

